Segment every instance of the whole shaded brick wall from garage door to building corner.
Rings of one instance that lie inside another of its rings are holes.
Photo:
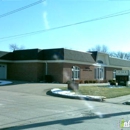
[[[7,68],[8,79],[34,82],[45,80],[45,63],[9,63]],[[47,63],[47,69],[47,74],[53,77],[53,81],[63,82],[62,63]]]

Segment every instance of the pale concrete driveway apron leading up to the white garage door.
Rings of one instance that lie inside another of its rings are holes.
[[[28,93],[33,95],[46,95],[46,91],[56,87],[66,87],[66,84],[48,84],[48,83],[26,83],[14,82],[13,85],[0,86],[0,90]]]

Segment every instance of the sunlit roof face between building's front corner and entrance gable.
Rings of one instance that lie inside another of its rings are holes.
[[[64,60],[95,63],[91,53],[64,49]]]

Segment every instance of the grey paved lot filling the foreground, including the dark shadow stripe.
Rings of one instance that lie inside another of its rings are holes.
[[[127,105],[46,95],[48,89],[59,86],[66,85],[22,83],[0,86],[0,129],[120,130],[122,118],[130,120]]]

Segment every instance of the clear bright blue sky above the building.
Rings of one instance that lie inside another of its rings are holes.
[[[36,1],[0,0],[0,15]],[[2,39],[87,21],[129,9],[130,1],[46,0],[26,10],[0,18],[0,50],[10,51],[9,44],[24,46],[25,49],[64,47],[79,51],[87,51],[96,45],[106,45],[110,51],[130,52],[130,13],[35,35]]]

